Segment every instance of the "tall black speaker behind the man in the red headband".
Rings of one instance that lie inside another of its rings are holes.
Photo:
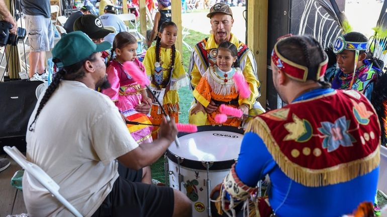
[[[329,0],[327,0],[329,3]],[[305,0],[270,0],[268,1],[268,26],[267,26],[267,88],[266,88],[266,108],[276,109],[283,105],[274,88],[270,68],[271,51],[277,39],[287,34],[298,35],[301,26],[304,10],[308,4],[317,4],[316,1]],[[336,0],[340,11],[345,9],[345,0]],[[315,21],[316,8],[310,7],[307,19],[307,28],[304,35],[313,35],[313,24]],[[325,11],[323,11],[325,13]],[[306,16],[305,16],[306,17]],[[305,22],[305,21],[304,21]],[[329,27],[322,29],[322,35],[325,37]]]

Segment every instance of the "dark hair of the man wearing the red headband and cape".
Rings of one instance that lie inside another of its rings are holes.
[[[307,80],[316,81],[320,66],[326,59],[326,53],[321,44],[312,36],[293,36],[281,40],[277,44],[278,52],[286,59],[308,68]],[[318,80],[323,88],[330,88],[328,82]]]

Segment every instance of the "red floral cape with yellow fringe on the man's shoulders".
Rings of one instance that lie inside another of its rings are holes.
[[[349,181],[379,164],[380,126],[369,101],[354,90],[301,100],[253,119],[280,169],[317,187]]]

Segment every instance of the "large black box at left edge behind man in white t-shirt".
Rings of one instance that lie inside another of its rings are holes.
[[[37,99],[36,88],[41,81],[9,81],[0,83],[0,152],[3,146],[26,150],[27,124]]]

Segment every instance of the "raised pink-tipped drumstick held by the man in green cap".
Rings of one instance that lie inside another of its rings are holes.
[[[132,78],[135,81],[137,81],[137,83],[146,87],[146,89],[152,94],[153,98],[156,99],[156,102],[161,107],[161,110],[163,111],[166,120],[170,121],[171,119],[170,119],[169,115],[167,115],[167,113],[165,112],[164,107],[161,105],[161,103],[159,102],[157,97],[154,95],[154,93],[152,92],[152,90],[148,86],[150,84],[149,78],[138,68],[138,66],[135,65],[135,63],[133,63],[131,61],[126,61],[122,65],[124,66],[124,68],[128,72],[128,74],[130,76],[132,76]],[[180,142],[179,142],[179,139],[177,138],[177,135],[175,137],[175,144],[176,144],[177,148],[180,146]]]

